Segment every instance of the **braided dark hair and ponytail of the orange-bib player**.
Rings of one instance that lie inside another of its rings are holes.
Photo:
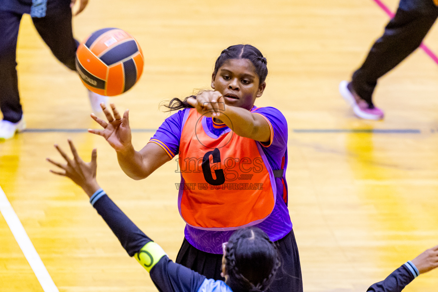
[[[258,76],[260,83],[266,80],[266,76],[268,75],[268,67],[266,58],[263,54],[254,46],[251,45],[234,45],[229,46],[224,49],[219,57],[216,59],[215,68],[213,70],[213,74],[217,74],[218,70],[222,65],[230,59],[248,59],[255,67],[255,73]],[[189,97],[196,98],[196,95],[187,96],[184,100],[174,98],[170,100],[169,104],[163,104],[167,108],[166,112],[171,112],[173,110],[191,108],[193,106],[187,103],[187,99]]]

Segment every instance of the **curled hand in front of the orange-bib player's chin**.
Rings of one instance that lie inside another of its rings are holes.
[[[207,117],[220,118],[225,111],[225,99],[219,91],[203,91],[196,99],[189,97],[187,102],[193,106],[198,113]]]

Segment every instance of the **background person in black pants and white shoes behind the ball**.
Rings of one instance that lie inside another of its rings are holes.
[[[9,139],[26,127],[18,93],[16,50],[18,29],[23,14],[30,14],[41,38],[53,55],[76,71],[75,58],[79,42],[73,38],[71,8],[78,1],[78,15],[88,0],[1,0],[0,1],[0,139]],[[93,111],[107,97],[88,92]]]

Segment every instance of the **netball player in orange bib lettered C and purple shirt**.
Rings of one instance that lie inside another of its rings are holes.
[[[224,49],[212,74],[212,91],[167,106],[179,110],[167,118],[148,144],[135,151],[128,111],[102,130],[89,130],[116,150],[123,171],[144,179],[179,154],[178,206],[186,222],[177,256],[208,278],[223,280],[222,243],[234,230],[257,226],[275,241],[281,267],[268,291],[303,291],[300,259],[287,210],[287,123],[272,107],[256,107],[265,90],[266,59],[251,45]],[[237,259],[236,259],[237,260]]]

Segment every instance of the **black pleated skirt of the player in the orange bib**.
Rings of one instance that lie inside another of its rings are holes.
[[[303,292],[300,256],[295,235],[291,230],[276,242],[281,266],[266,292]],[[185,238],[177,255],[176,262],[190,268],[209,279],[225,279],[220,275],[222,254],[206,253],[192,246]]]

